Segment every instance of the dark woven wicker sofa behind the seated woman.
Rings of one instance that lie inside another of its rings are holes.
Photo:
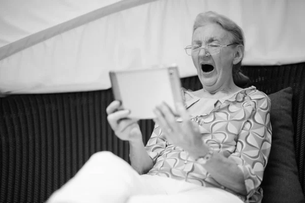
[[[244,66],[243,73],[266,94],[293,88],[296,184],[305,194],[305,63]],[[187,89],[201,86],[197,77],[181,81]],[[112,100],[111,89],[0,98],[0,202],[44,202],[98,151],[112,151],[129,162],[128,143],[116,139],[107,123],[105,110]],[[154,123],[141,120],[140,126],[147,142]],[[287,195],[289,202],[303,202]]]

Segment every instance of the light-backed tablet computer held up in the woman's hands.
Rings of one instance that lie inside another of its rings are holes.
[[[182,102],[182,90],[176,66],[109,72],[115,100],[135,119],[156,117],[153,109],[163,101],[176,113],[176,103]]]

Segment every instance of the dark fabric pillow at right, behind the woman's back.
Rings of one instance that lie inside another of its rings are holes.
[[[292,124],[292,88],[269,95],[272,144],[264,172],[262,202],[305,202],[295,161]]]

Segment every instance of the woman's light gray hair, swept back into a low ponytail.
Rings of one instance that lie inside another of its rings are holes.
[[[231,33],[233,40],[231,43],[239,44],[245,47],[245,37],[242,29],[228,17],[218,14],[216,12],[208,11],[205,13],[199,13],[195,19],[193,26],[193,33],[198,27],[202,27],[207,23],[219,24],[223,29]],[[235,85],[239,87],[246,87],[250,84],[250,79],[243,75],[240,70],[241,61],[233,65],[232,75]]]

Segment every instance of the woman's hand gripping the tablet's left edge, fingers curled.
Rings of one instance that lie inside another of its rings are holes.
[[[142,141],[142,133],[137,120],[129,118],[130,110],[119,109],[120,106],[120,101],[114,100],[106,109],[107,120],[115,135],[125,141]]]

